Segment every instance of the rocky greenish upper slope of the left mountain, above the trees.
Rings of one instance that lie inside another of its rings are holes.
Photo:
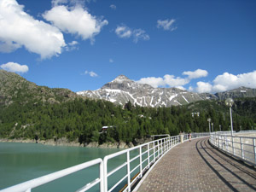
[[[38,86],[16,73],[0,70],[0,107],[9,106],[13,102],[26,104],[28,101],[60,103],[76,97],[71,90]]]

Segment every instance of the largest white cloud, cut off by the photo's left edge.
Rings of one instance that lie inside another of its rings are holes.
[[[28,51],[49,58],[66,46],[55,26],[35,20],[15,0],[0,1],[0,51],[11,52],[24,46]]]

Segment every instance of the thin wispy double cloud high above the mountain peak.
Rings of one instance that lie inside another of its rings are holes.
[[[139,40],[149,40],[149,35],[142,29],[131,29],[128,26],[117,26],[115,33],[119,38],[133,38],[133,42],[137,43]]]

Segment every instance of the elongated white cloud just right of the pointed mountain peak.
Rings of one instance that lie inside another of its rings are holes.
[[[137,83],[140,84],[149,84],[156,87],[163,87],[163,86],[169,86],[169,87],[177,87],[180,89],[185,89],[183,86],[185,84],[189,84],[191,79],[199,79],[201,77],[207,76],[207,71],[197,69],[195,72],[183,72],[183,75],[188,75],[187,78],[180,78],[175,77],[174,75],[166,74],[163,78],[155,78],[155,77],[149,77],[149,78],[143,78],[137,81]]]

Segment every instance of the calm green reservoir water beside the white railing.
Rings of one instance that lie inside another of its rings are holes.
[[[0,143],[0,189],[118,152],[117,148],[59,147],[36,143]],[[121,160],[123,161],[123,160]],[[75,191],[98,177],[97,166],[62,177],[32,191]],[[98,186],[90,191],[98,191]]]

